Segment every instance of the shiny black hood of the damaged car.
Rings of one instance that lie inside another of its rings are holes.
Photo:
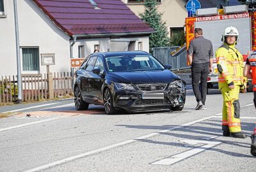
[[[113,72],[109,76],[124,83],[169,83],[179,76],[170,70]]]

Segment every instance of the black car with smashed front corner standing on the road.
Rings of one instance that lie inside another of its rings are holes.
[[[108,114],[182,110],[186,99],[186,83],[147,52],[94,53],[75,76],[77,110],[87,110],[89,104],[104,105]]]

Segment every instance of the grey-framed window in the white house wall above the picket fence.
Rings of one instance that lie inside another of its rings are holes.
[[[39,71],[39,48],[22,48],[22,71]]]

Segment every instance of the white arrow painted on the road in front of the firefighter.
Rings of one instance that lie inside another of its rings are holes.
[[[217,138],[217,137],[215,137],[215,138]],[[222,143],[220,141],[205,141],[205,140],[180,140],[180,141],[183,143],[186,143],[188,145],[196,145],[199,143],[202,143],[204,145],[202,145],[200,147],[192,148],[191,150],[188,150],[186,152],[182,152],[180,154],[173,155],[172,157],[168,157],[168,158],[162,159],[160,161],[153,162],[151,164],[170,166],[172,164],[175,164],[176,162],[182,161],[188,157],[192,157],[193,155],[199,154],[200,152],[203,152],[204,150],[215,147],[216,145],[220,145]]]

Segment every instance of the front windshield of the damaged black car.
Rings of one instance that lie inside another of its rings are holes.
[[[151,55],[126,55],[106,57],[108,71],[145,71],[161,70],[164,66]]]

